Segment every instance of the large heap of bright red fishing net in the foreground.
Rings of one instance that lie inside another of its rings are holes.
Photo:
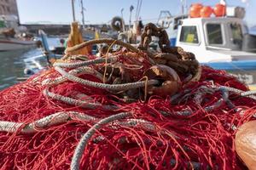
[[[15,132],[0,128],[1,169],[69,169],[79,139],[98,121],[73,116],[54,126],[35,125],[33,133],[21,132],[28,123],[60,111],[77,111],[97,120],[131,112],[132,116],[96,130],[83,150],[81,169],[246,168],[236,155],[234,139],[236,127],[254,119],[255,100],[235,92],[228,92],[226,99],[225,91],[216,87],[248,89],[224,71],[203,66],[200,81],[189,83],[174,96],[153,95],[147,101],[142,97],[131,103],[108,90],[78,82],[49,87],[50,93],[99,104],[91,109],[44,95],[41,82],[60,76],[50,69],[0,93],[1,121],[24,123]],[[88,74],[80,77],[101,82]],[[106,110],[101,105],[116,108]]]

